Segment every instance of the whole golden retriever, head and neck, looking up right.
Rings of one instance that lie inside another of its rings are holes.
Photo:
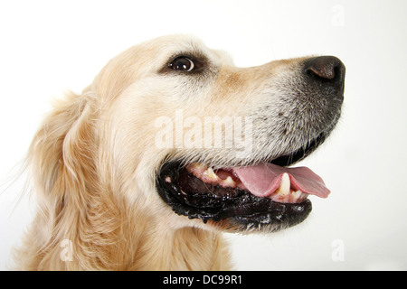
[[[333,56],[238,68],[189,35],[120,53],[33,138],[38,210],[17,266],[232,269],[222,232],[294,226],[329,194],[291,165],[336,126],[344,81]]]

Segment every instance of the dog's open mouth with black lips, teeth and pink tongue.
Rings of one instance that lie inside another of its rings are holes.
[[[307,167],[288,167],[324,140],[321,134],[296,152],[244,167],[165,163],[157,175],[157,190],[175,213],[189,219],[226,221],[239,230],[288,228],[308,217],[309,195],[327,198],[330,192]]]

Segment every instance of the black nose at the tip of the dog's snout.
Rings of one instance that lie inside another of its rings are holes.
[[[343,85],[345,65],[335,56],[319,56],[305,61],[305,69],[309,76],[324,82],[335,82]]]

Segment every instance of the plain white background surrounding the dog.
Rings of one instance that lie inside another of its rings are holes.
[[[193,33],[238,66],[332,54],[346,66],[336,131],[302,164],[332,191],[301,225],[228,235],[242,270],[407,269],[406,1],[0,1],[0,268],[32,218],[13,180],[52,98],[118,52]],[[7,186],[11,184],[10,187]]]

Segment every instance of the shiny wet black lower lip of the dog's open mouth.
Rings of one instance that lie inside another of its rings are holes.
[[[171,182],[168,182],[169,180]],[[157,174],[156,188],[175,213],[189,219],[202,219],[204,223],[208,220],[216,222],[228,219],[229,225],[235,228],[269,226],[270,230],[275,230],[300,223],[312,210],[309,200],[300,203],[279,203],[270,198],[256,197],[241,189],[230,189],[224,193],[223,188],[204,182],[208,190],[191,191],[188,182],[195,182],[196,185],[196,182],[202,181],[187,172],[181,163],[166,163]],[[221,189],[222,194],[213,193]]]

